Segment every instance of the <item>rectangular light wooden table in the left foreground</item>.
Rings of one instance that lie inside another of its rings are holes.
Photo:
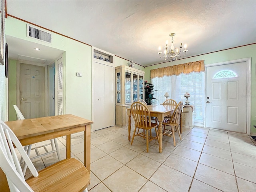
[[[91,124],[93,124],[91,120],[86,120],[72,114],[66,114],[34,119],[8,121],[5,123],[18,137],[22,146],[57,138],[60,136],[66,136],[66,158],[71,157],[70,134],[84,131],[84,166],[90,173]]]

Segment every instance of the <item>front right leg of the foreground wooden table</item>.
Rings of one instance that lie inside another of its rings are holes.
[[[90,173],[91,170],[91,125],[87,125],[84,131],[84,166]]]

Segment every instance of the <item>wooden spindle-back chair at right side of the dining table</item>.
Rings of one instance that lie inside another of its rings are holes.
[[[174,135],[174,128],[178,132],[181,140],[181,135],[180,135],[180,113],[182,111],[183,107],[183,102],[179,102],[171,116],[170,119],[164,119],[163,121],[163,135],[173,137],[173,142],[174,142],[174,147],[176,146],[176,141],[175,141],[175,135]],[[170,126],[170,129],[167,129],[166,126]]]

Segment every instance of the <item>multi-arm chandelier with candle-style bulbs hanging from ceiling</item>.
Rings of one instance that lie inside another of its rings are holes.
[[[171,47],[170,47],[170,49],[168,50],[168,48],[169,48],[169,46],[168,46],[168,40],[166,40],[166,46],[164,46],[164,55],[163,56],[161,56],[161,54],[162,54],[162,52],[161,52],[161,47],[159,47],[159,52],[158,52],[158,54],[159,54],[159,56],[160,56],[160,58],[162,58],[162,59],[164,59],[164,60],[171,60],[171,61],[175,61],[175,60],[177,60],[177,58],[178,58],[178,56],[179,57],[184,57],[185,55],[186,55],[186,52],[188,51],[188,50],[186,50],[186,48],[187,48],[187,46],[186,46],[186,44],[184,45],[184,50],[183,50],[183,52],[184,52],[184,55],[183,56],[180,56],[180,52],[181,52],[181,49],[182,49],[182,43],[180,44],[180,49],[179,48],[174,48],[174,45],[173,45],[173,42],[174,42],[174,40],[173,40],[173,36],[175,35],[175,33],[171,33],[170,34],[170,36],[172,37],[172,41],[171,41]]]

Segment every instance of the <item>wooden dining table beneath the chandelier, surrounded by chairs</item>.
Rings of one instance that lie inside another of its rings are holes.
[[[147,106],[150,115],[153,117],[157,117],[159,121],[158,130],[159,130],[159,153],[162,153],[162,140],[163,140],[163,126],[162,122],[164,117],[170,115],[171,112],[175,110],[176,105],[165,106],[162,104],[159,105],[148,105]],[[128,118],[128,140],[131,140],[131,112],[130,108],[127,108]],[[180,113],[180,133],[182,133],[182,113]]]

